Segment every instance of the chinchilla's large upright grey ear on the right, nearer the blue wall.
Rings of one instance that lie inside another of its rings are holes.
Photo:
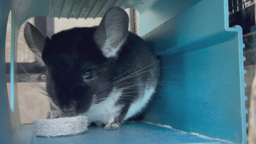
[[[123,9],[113,7],[106,12],[94,33],[94,41],[105,57],[118,56],[118,50],[126,40],[128,26],[129,17]]]

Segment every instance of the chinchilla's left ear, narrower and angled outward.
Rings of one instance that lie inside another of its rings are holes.
[[[28,47],[30,47],[30,50],[36,55],[39,65],[43,66],[42,50],[46,43],[46,36],[44,36],[38,28],[27,22],[24,29],[24,37]]]

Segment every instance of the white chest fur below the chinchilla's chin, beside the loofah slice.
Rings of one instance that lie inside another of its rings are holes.
[[[121,95],[122,89],[116,89],[116,87],[114,87],[109,96],[103,100],[103,102],[92,104],[90,109],[82,115],[88,116],[89,123],[102,121],[103,124],[108,124],[110,119],[119,115],[122,106],[116,105],[116,102]]]

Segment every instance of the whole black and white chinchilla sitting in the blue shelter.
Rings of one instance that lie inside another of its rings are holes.
[[[146,108],[158,84],[159,61],[143,39],[128,32],[128,22],[126,12],[113,7],[99,26],[52,38],[26,24],[26,42],[47,68],[47,118],[84,114],[110,130]]]

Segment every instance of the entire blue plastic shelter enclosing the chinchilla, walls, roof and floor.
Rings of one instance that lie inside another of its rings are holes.
[[[246,143],[244,69],[241,28],[228,27],[228,0],[0,0],[0,139],[1,143],[162,142],[225,143],[148,124],[126,124],[113,132],[92,128],[74,137],[34,137],[31,125],[20,124],[15,61],[18,31],[34,16],[102,17],[111,6],[140,12],[140,34],[162,60],[162,82],[145,120],[167,124],[234,143]],[[12,10],[12,96],[7,98],[4,43]],[[135,141],[136,140],[136,141]]]

